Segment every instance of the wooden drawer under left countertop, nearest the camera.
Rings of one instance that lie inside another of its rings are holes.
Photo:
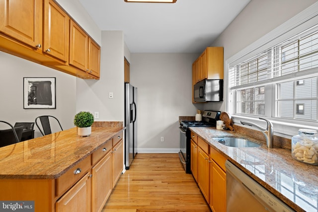
[[[90,169],[90,157],[86,157],[78,164],[73,166],[61,177],[56,179],[56,196],[64,194],[69,188],[71,188],[87,171]],[[80,170],[80,171],[79,171]],[[76,173],[79,171],[79,173]]]

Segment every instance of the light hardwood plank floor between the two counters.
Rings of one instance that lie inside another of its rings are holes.
[[[138,153],[102,212],[211,212],[177,153]]]

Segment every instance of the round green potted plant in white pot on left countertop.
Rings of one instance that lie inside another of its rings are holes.
[[[94,116],[90,112],[80,111],[74,117],[74,125],[78,127],[79,136],[89,136]]]

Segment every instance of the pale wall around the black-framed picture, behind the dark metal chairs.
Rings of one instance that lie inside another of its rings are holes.
[[[66,130],[73,128],[76,111],[76,77],[0,52],[0,120],[34,122],[40,115],[57,117]],[[56,77],[56,109],[23,109],[23,77]],[[7,128],[0,125],[2,128]],[[0,127],[0,128],[1,128]],[[34,127],[35,137],[40,132]]]

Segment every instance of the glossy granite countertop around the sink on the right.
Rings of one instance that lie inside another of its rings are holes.
[[[213,127],[192,127],[190,130],[297,212],[318,212],[317,166],[293,159],[290,150],[270,149],[265,143],[236,132]],[[248,138],[261,146],[229,147],[213,139],[224,136]]]

